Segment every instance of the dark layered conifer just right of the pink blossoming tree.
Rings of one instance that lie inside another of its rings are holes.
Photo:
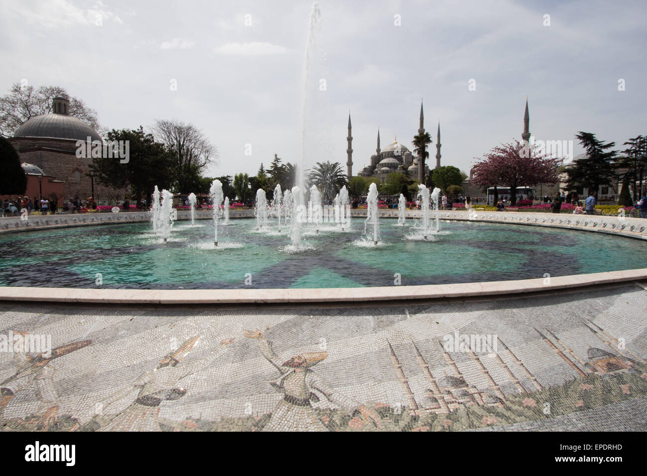
[[[586,157],[578,159],[573,166],[566,170],[567,180],[564,190],[575,190],[578,187],[587,187],[595,192],[601,185],[613,187],[616,178],[615,170],[617,152],[611,150],[615,142],[606,144],[590,132],[579,132],[575,135],[586,150]]]

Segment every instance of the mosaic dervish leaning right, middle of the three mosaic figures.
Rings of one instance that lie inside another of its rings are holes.
[[[131,394],[133,389],[138,389],[135,402],[116,414],[109,424],[98,431],[160,431],[157,421],[160,404],[164,401],[179,400],[186,394],[186,389],[177,387],[179,381],[208,367],[212,361],[225,352],[227,345],[234,342],[234,338],[225,339],[204,359],[179,365],[199,339],[199,335],[192,337],[173,354],[164,356],[156,368],[144,372],[133,382],[131,387],[117,391],[110,396],[104,402],[104,411],[113,403]]]

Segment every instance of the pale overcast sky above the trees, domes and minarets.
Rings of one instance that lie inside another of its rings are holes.
[[[590,131],[622,144],[647,133],[644,1],[318,5],[328,71],[322,117],[329,130],[322,137],[330,137],[330,160],[345,164],[351,111],[353,172],[369,163],[378,126],[382,147],[397,134],[411,148],[421,98],[433,144],[441,121],[443,164],[466,171],[499,142],[521,139],[526,96],[536,139]],[[0,94],[27,79],[65,87],[107,128],[192,122],[219,150],[210,175],[255,174],[274,153],[300,160],[312,1],[2,6]]]

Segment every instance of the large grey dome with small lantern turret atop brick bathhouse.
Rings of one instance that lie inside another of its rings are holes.
[[[52,139],[73,139],[76,141],[100,141],[98,133],[82,120],[68,115],[69,100],[54,98],[54,113],[41,114],[25,121],[14,133],[14,137],[48,137]]]

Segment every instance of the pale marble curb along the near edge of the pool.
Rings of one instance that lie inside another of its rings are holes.
[[[587,275],[425,286],[313,289],[71,289],[0,287],[0,301],[94,304],[274,304],[452,299],[564,291],[569,288],[647,280],[647,268]]]

